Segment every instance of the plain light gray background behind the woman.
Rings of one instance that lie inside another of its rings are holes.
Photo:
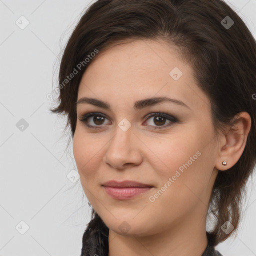
[[[73,183],[65,119],[50,114],[46,94],[57,85],[59,53],[91,2],[0,0],[0,256],[80,255],[90,209],[79,179]],[[256,0],[228,3],[256,37]],[[29,21],[24,29],[15,24],[21,15]],[[256,255],[255,181],[248,182],[237,237],[216,246],[224,256]]]

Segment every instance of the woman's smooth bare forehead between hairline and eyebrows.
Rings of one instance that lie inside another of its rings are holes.
[[[191,108],[209,105],[189,64],[166,42],[134,40],[99,51],[92,60],[82,75],[78,99],[89,96],[133,105],[142,98],[169,96]]]

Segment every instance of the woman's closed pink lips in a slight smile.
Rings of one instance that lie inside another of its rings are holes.
[[[102,186],[108,195],[119,200],[131,199],[137,195],[145,193],[153,187],[152,185],[133,180],[108,180],[103,183]]]

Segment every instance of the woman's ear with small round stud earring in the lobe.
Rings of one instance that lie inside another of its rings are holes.
[[[219,137],[219,157],[215,168],[226,170],[232,167],[240,158],[250,130],[251,118],[247,112],[239,112],[233,118],[233,127]],[[226,161],[226,165],[222,164]]]

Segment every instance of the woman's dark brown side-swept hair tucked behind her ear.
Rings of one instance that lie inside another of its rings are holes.
[[[229,29],[221,24],[226,16],[234,21]],[[60,87],[58,105],[51,109],[67,115],[66,127],[70,126],[72,137],[76,126],[74,102],[83,72],[103,50],[129,39],[161,40],[179,49],[182,59],[192,67],[198,86],[210,99],[216,135],[224,125],[232,127],[235,114],[250,114],[244,151],[232,167],[218,172],[211,193],[209,211],[215,222],[207,236],[215,246],[237,230],[242,194],[256,162],[256,102],[252,97],[256,91],[256,41],[223,0],[97,0],[81,16],[65,45],[59,83],[88,54],[95,49],[99,53],[80,65],[78,73]],[[228,234],[221,230],[227,220],[234,226]],[[107,235],[108,228],[92,209],[81,255],[104,255],[100,248],[108,246]]]

